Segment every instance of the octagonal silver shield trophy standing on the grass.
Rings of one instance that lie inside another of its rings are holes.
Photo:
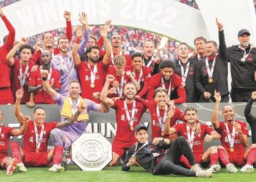
[[[83,133],[72,144],[72,161],[83,171],[102,170],[111,160],[111,143],[100,133]]]

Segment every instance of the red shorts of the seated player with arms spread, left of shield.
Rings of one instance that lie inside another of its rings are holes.
[[[24,165],[27,167],[48,165],[47,161],[49,151],[23,151],[24,152]]]

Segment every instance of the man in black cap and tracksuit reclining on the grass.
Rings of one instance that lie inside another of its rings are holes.
[[[137,162],[153,175],[184,175],[196,177],[211,177],[211,170],[202,170],[195,163],[195,158],[184,137],[178,137],[176,141],[167,138],[154,138],[148,142],[148,129],[143,124],[135,127],[135,138],[138,142],[129,148],[127,157],[122,165],[122,170],[127,171]],[[163,153],[161,149],[168,149]],[[192,165],[191,170],[181,167],[180,158],[184,155]]]

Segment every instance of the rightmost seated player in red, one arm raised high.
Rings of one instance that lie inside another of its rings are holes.
[[[215,92],[214,98],[216,103],[211,122],[215,130],[222,135],[222,146],[218,146],[220,161],[230,173],[238,171],[234,165],[242,167],[240,171],[243,173],[252,173],[254,170],[252,165],[256,161],[256,144],[249,146],[246,123],[235,120],[234,108],[229,105],[222,108],[224,122],[219,122],[218,111],[222,97],[219,92]]]

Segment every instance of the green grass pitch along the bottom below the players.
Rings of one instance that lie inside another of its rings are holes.
[[[214,173],[211,178],[194,178],[194,177],[181,177],[177,175],[151,175],[146,173],[142,167],[132,167],[129,172],[123,172],[121,166],[117,167],[106,167],[102,171],[97,172],[83,172],[75,165],[68,165],[68,170],[64,173],[50,173],[48,167],[29,167],[28,173],[14,173],[13,175],[5,175],[5,170],[0,170],[0,181],[1,182],[36,182],[36,181],[111,181],[111,182],[125,182],[125,181],[172,181],[172,182],[197,182],[197,181],[227,181],[227,182],[256,182],[256,170],[254,173],[226,173],[225,169],[222,169],[220,173]]]

